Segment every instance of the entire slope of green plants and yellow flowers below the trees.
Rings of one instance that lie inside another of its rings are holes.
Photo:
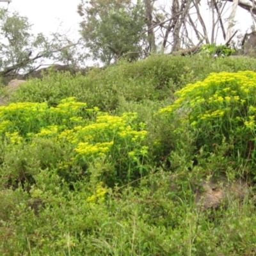
[[[255,255],[255,64],[152,56],[22,84],[0,107],[0,254]],[[243,197],[195,204],[223,174]]]

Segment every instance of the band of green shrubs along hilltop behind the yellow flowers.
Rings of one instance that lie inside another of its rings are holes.
[[[195,56],[150,56],[135,63],[120,61],[113,67],[94,68],[86,76],[68,72],[47,74],[40,79],[29,79],[10,95],[11,102],[47,102],[57,106],[61,99],[76,97],[88,108],[113,112],[127,102],[173,100],[173,93],[188,83],[205,79],[211,72],[256,71],[256,60],[251,58],[211,58]]]

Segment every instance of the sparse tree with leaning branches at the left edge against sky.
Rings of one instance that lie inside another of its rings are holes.
[[[53,33],[51,38],[42,33],[35,36],[27,17],[0,8],[0,76],[29,74],[46,60],[72,64],[78,43],[60,33]]]

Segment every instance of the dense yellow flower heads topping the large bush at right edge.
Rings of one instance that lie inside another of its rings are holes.
[[[189,121],[195,126],[199,120],[224,118],[230,109],[240,108],[250,102],[250,95],[256,93],[256,73],[239,71],[237,73],[211,73],[204,81],[188,84],[175,93],[177,99],[171,106],[162,108],[160,113],[179,113],[189,109]],[[236,112],[236,115],[238,111]],[[234,116],[236,118],[236,116]],[[252,120],[244,123],[252,126]]]

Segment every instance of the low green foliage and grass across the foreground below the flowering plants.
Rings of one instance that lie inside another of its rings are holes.
[[[22,189],[1,191],[0,204],[12,211],[1,221],[0,252],[245,256],[255,250],[251,203],[233,201],[227,210],[200,211],[193,206],[188,173],[177,180],[182,193],[170,189],[169,176],[159,171],[140,188],[108,189],[104,201],[91,203],[88,198],[100,185],[77,182],[70,191],[56,172],[42,171],[30,198]]]

